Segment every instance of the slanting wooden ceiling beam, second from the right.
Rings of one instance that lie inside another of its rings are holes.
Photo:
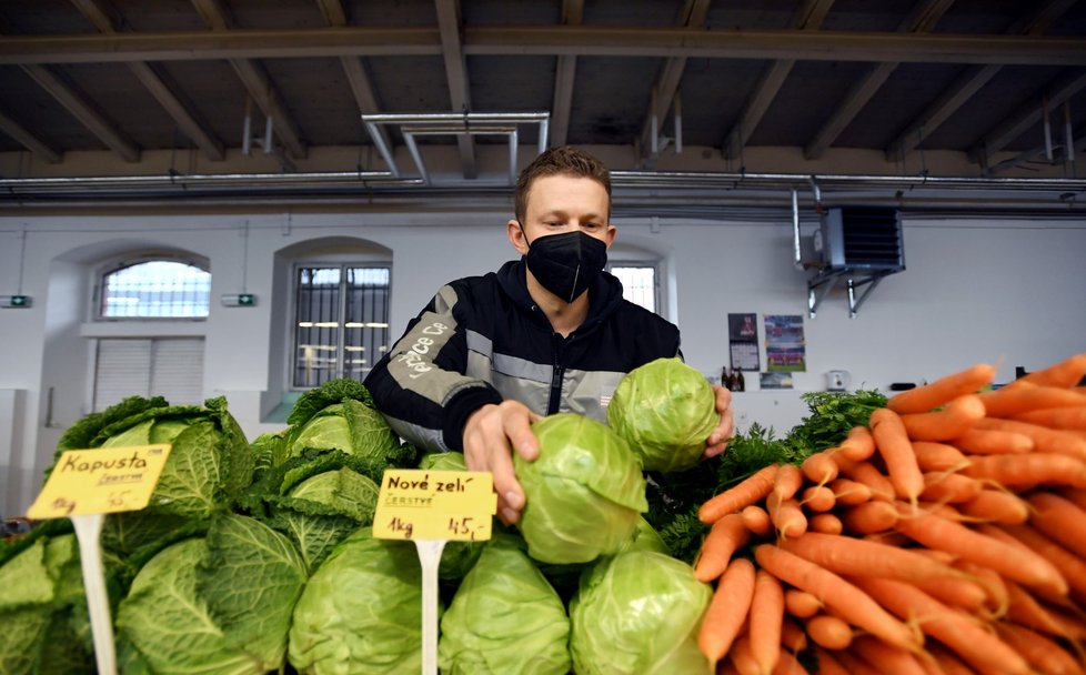
[[[1033,14],[1026,16],[1010,28],[1008,34],[1040,36],[1056,19],[1064,14],[1077,0],[1049,0]],[[938,129],[962,105],[988,83],[1003,67],[998,63],[967,69],[955,78],[919,115],[917,115],[886,147],[886,160],[904,161],[909,152],[916,150],[924,139]]]

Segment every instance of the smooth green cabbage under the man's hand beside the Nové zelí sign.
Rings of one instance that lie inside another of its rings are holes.
[[[641,462],[622,436],[576,413],[532,425],[540,456],[513,455],[527,498],[517,527],[536,561],[587,563],[616,552],[648,511]]]

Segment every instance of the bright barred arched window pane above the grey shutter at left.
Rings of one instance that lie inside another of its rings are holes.
[[[127,262],[102,275],[102,319],[207,319],[211,273],[175,260]]]

